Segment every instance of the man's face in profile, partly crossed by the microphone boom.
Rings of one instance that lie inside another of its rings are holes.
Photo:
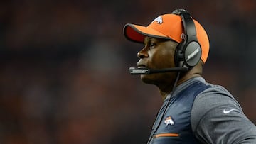
[[[175,67],[174,53],[178,43],[171,40],[145,37],[144,48],[138,52],[138,67],[149,69],[162,69]],[[176,72],[158,74],[142,74],[141,79],[148,84],[173,84]]]

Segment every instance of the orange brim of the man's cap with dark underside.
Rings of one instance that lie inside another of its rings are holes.
[[[137,43],[144,43],[145,36],[153,37],[153,38],[164,38],[171,39],[166,35],[159,33],[159,31],[154,30],[153,28],[149,28],[146,26],[134,25],[131,23],[127,23],[124,26],[124,36],[128,40],[132,40]]]

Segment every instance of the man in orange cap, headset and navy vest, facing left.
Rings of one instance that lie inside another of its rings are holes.
[[[128,23],[124,35],[144,43],[130,73],[159,87],[164,99],[148,143],[256,143],[255,125],[238,101],[203,79],[208,35],[188,11],[161,15],[149,26]]]

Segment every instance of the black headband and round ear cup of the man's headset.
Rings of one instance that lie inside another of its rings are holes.
[[[191,14],[185,9],[176,9],[172,12],[181,16],[184,33],[181,35],[183,41],[178,44],[174,61],[176,67],[188,67],[191,70],[201,59],[201,45],[196,38],[196,26]]]

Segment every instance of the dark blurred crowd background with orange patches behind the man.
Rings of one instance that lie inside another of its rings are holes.
[[[122,28],[180,8],[208,32],[206,81],[256,123],[254,0],[1,1],[0,143],[146,143],[161,96],[129,74],[142,45]]]

